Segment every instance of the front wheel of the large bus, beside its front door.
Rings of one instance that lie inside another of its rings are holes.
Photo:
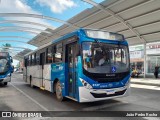
[[[59,81],[56,83],[56,97],[58,101],[63,101],[62,87]]]

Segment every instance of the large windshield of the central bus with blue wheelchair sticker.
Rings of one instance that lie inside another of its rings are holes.
[[[129,53],[125,45],[83,42],[83,68],[90,73],[129,71]]]

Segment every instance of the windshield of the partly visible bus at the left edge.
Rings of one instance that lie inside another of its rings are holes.
[[[8,58],[5,56],[0,56],[0,73],[7,72],[9,69]]]

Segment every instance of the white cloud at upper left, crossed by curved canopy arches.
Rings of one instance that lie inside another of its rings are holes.
[[[28,14],[41,15],[40,12],[32,9],[31,6],[27,5],[25,0],[1,0],[0,13],[28,13]],[[47,20],[33,18],[33,17],[4,17],[4,19],[36,22],[36,23],[52,26]],[[14,25],[17,25],[17,24],[14,24]],[[19,24],[18,26],[34,27],[34,28],[42,29],[42,30],[45,29],[45,27],[42,27],[42,26],[29,25],[29,24]],[[53,28],[55,28],[55,27],[53,27]]]

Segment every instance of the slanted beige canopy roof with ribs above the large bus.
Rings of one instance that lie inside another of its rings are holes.
[[[160,0],[106,0],[100,4],[83,1],[93,7],[69,19],[70,25],[47,29],[52,35],[41,32],[28,43],[39,47],[78,28],[118,32],[125,36],[129,45],[160,40]]]

